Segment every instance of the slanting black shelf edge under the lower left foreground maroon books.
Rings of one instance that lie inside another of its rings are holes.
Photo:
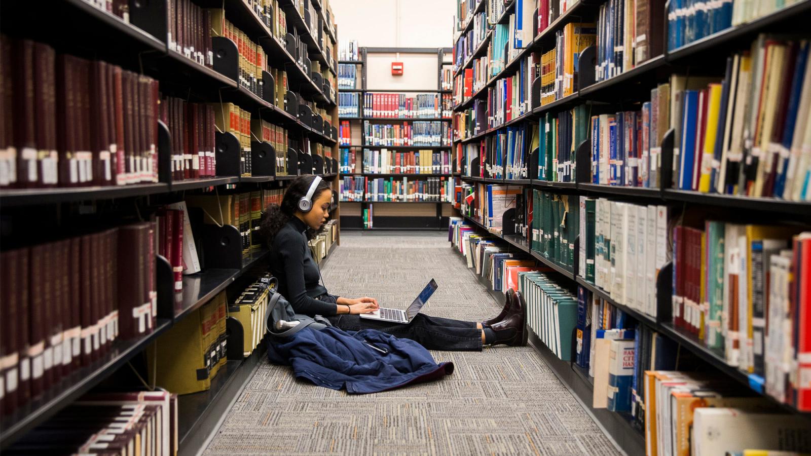
[[[76,369],[70,376],[62,377],[62,381],[51,386],[41,396],[19,407],[11,415],[4,416],[0,421],[2,423],[0,447],[11,445],[26,432],[44,423],[76,398],[87,393],[169,329],[171,324],[172,321],[169,319],[158,319],[152,333],[143,338],[114,342],[114,346],[101,359],[97,359],[89,366]]]

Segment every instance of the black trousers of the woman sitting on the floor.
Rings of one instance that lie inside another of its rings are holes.
[[[333,295],[322,295],[318,299],[334,303]],[[329,316],[333,326],[345,331],[377,329],[397,338],[411,339],[428,350],[482,351],[482,330],[476,329],[476,322],[452,320],[418,313],[410,323],[367,320],[358,315]]]

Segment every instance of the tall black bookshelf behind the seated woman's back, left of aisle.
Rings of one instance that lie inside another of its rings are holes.
[[[170,161],[173,154],[172,134],[165,123],[155,118],[157,182],[0,188],[4,220],[0,234],[3,252],[36,245],[42,243],[43,239],[54,239],[53,233],[47,234],[46,238],[41,237],[44,228],[28,233],[31,226],[49,224],[51,228],[58,226],[58,230],[66,232],[104,230],[109,226],[120,226],[148,217],[163,204],[182,201],[188,196],[217,195],[219,198],[235,192],[281,191],[298,174],[319,174],[333,191],[338,190],[337,160],[333,158],[338,155],[337,128],[334,127],[337,125],[337,32],[332,24],[332,11],[328,3],[280,0],[278,6],[286,14],[286,44],[272,32],[272,19],[257,14],[259,10],[254,7],[258,5],[257,2],[192,0],[191,5],[221,8],[225,19],[242,30],[264,52],[268,70],[286,71],[289,85],[281,97],[283,103],[276,103],[275,87],[268,71],[259,76],[260,80],[264,80],[264,91],[251,91],[239,82],[236,45],[225,38],[214,37],[211,40],[213,58],[210,66],[169,49],[168,0],[131,3],[129,22],[83,0],[53,2],[49,4],[47,15],[42,15],[33,5],[9,4],[3,6],[0,31],[4,37],[28,39],[52,46],[57,55],[99,59],[125,71],[133,71],[136,75],[149,76],[157,80],[157,87],[165,97],[179,97],[195,103],[234,103],[250,114],[251,119],[262,119],[284,128],[287,137],[294,142],[277,156],[272,144],[254,138],[250,148],[242,148],[252,162],[251,173],[247,175],[239,165],[241,144],[234,134],[217,132],[213,135],[216,140],[212,144],[217,149],[214,153],[216,173],[209,177],[173,179],[173,164]],[[299,13],[297,5],[307,6],[303,15]],[[71,34],[66,34],[62,28],[65,17],[70,17],[71,28],[75,27]],[[99,36],[105,39],[99,40]],[[292,41],[296,41],[296,37],[302,46],[294,45]],[[318,68],[315,67],[316,62]],[[310,106],[318,112],[313,112]],[[324,116],[320,113],[324,113]],[[3,115],[10,113],[6,111]],[[277,159],[283,161],[285,170],[292,173],[284,174],[285,171],[277,170]],[[330,210],[334,219],[340,217],[340,205],[337,203]],[[204,267],[199,273],[182,276],[181,292],[173,291],[172,267],[163,256],[155,255],[147,259],[154,262],[157,293],[157,322],[152,331],[135,338],[116,339],[96,359],[72,369],[65,376],[57,377],[40,394],[0,416],[0,449],[12,448],[15,441],[33,428],[44,424],[98,386],[103,385],[105,389],[115,386],[115,390],[118,390],[121,388],[116,384],[119,379],[126,379],[125,385],[133,383],[131,366],[139,368],[144,364],[144,352],[148,346],[152,346],[159,337],[221,292],[225,291],[229,299],[233,299],[246,284],[267,271],[268,249],[259,248],[243,255],[239,232],[234,226],[197,230],[199,226],[196,223],[193,225],[195,230],[192,233],[198,251],[205,254]],[[57,234],[57,237],[63,235]],[[234,239],[236,242],[230,242]],[[221,243],[221,248],[210,247],[217,243]],[[340,224],[330,253],[338,243]],[[320,260],[321,263],[327,258]],[[241,345],[242,341],[239,343]],[[264,345],[260,344],[245,359],[241,356],[228,359],[217,376],[212,377],[210,389],[180,396],[179,454],[196,454],[202,450],[202,445],[216,429],[230,402],[241,393],[243,385],[264,356],[261,346]],[[5,375],[6,372],[3,373]],[[144,376],[143,372],[141,375]],[[140,389],[143,388],[131,390]]]

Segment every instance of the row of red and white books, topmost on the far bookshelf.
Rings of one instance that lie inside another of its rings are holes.
[[[450,117],[451,96],[448,93],[363,94],[363,117],[374,118],[440,118]]]

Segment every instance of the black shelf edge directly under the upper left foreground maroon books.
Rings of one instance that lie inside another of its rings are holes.
[[[68,201],[113,200],[169,191],[167,183],[136,183],[94,187],[11,188],[0,190],[0,206],[52,204]]]

